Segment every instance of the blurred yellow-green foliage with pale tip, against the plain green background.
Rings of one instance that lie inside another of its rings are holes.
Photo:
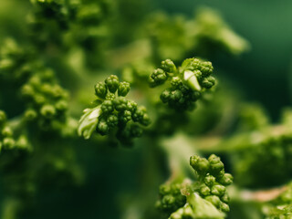
[[[236,56],[249,49],[248,42],[238,36],[217,11],[201,7],[194,15],[193,19],[162,12],[149,16],[145,35],[151,39],[152,56],[181,61],[194,55],[210,57],[214,50]]]

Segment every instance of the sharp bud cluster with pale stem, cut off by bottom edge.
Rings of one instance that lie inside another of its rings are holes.
[[[172,219],[225,218],[225,213],[229,212],[226,186],[233,182],[232,175],[222,175],[224,164],[214,154],[208,159],[193,155],[190,165],[197,180],[162,185],[157,207]]]

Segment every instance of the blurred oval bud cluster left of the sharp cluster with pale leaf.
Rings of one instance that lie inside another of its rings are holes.
[[[36,121],[44,130],[54,130],[57,124],[65,123],[68,92],[57,84],[50,69],[41,69],[29,78],[21,88],[21,96],[26,100],[27,121]]]

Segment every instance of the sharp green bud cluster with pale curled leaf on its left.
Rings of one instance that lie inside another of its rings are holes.
[[[95,101],[97,106],[84,111],[79,120],[78,135],[89,139],[94,130],[101,135],[114,132],[124,145],[130,145],[132,139],[141,137],[141,126],[148,126],[150,118],[145,108],[138,107],[135,101],[124,97],[130,90],[130,84],[119,82],[117,76],[111,75],[105,79],[105,83],[99,82],[95,90],[99,97]]]

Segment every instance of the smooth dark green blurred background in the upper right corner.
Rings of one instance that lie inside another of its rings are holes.
[[[237,83],[246,99],[261,102],[274,120],[291,103],[292,2],[283,1],[155,1],[172,14],[192,16],[206,5],[218,10],[227,24],[251,44],[241,57],[216,57],[214,66]]]

